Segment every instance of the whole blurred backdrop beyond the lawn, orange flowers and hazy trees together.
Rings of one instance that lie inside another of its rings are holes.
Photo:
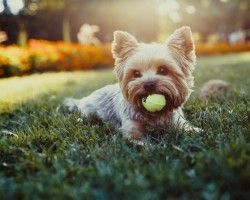
[[[0,0],[0,77],[110,66],[115,30],[163,42],[183,25],[198,55],[250,50],[250,0]]]

